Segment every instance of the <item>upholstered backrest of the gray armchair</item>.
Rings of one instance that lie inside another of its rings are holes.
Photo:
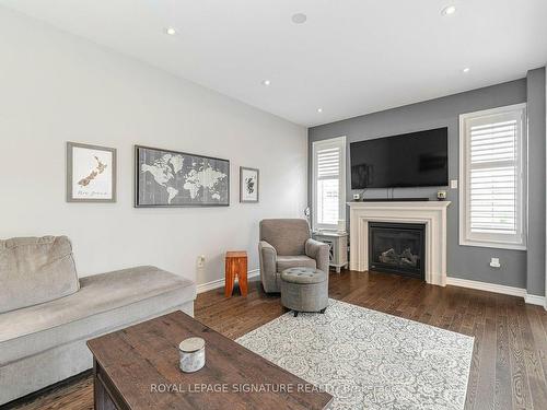
[[[274,246],[278,255],[304,255],[310,239],[310,224],[302,219],[269,219],[260,221],[260,241]]]

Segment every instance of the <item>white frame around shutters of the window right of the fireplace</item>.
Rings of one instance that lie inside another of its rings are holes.
[[[484,109],[459,115],[459,245],[499,249],[526,250],[527,235],[527,117],[526,103]],[[467,122],[503,114],[519,114],[520,134],[517,138],[517,233],[516,235],[470,232],[470,132]],[[516,238],[516,241],[515,241]]]

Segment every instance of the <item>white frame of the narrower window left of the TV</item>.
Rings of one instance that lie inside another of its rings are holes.
[[[338,224],[319,224],[317,222],[317,151],[328,148],[340,148],[340,167],[338,175],[338,220],[346,221],[346,136],[314,141],[312,143],[312,230],[337,231]]]

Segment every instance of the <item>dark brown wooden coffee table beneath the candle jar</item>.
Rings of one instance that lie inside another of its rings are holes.
[[[178,343],[206,340],[206,366],[178,368]],[[90,340],[96,410],[325,409],[333,397],[174,312]],[[243,393],[247,391],[247,393]]]

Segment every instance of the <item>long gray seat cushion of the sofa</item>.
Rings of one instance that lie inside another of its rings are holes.
[[[85,277],[79,292],[0,315],[0,366],[141,321],[196,298],[194,282],[144,266]]]

